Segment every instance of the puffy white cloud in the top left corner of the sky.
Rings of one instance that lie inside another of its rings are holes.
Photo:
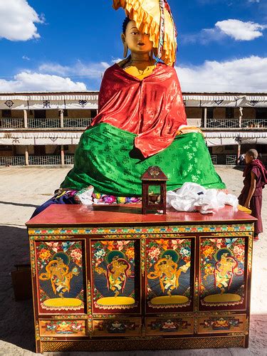
[[[0,38],[10,41],[39,38],[35,23],[43,23],[43,19],[27,0],[0,0]]]

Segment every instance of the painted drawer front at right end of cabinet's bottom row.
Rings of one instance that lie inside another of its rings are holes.
[[[224,315],[198,318],[197,333],[241,333],[246,327],[246,315]]]

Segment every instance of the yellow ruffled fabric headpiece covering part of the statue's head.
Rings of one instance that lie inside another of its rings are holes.
[[[115,10],[122,7],[139,31],[149,33],[157,57],[173,66],[177,52],[177,32],[167,0],[113,0]]]

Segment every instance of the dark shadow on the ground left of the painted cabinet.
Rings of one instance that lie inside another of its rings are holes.
[[[0,236],[0,339],[34,352],[32,300],[15,301],[10,275],[30,261],[27,230],[0,226]]]

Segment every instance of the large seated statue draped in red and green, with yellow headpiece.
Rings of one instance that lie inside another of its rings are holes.
[[[52,202],[73,204],[73,194],[90,185],[117,202],[140,197],[140,178],[155,165],[167,175],[168,190],[185,182],[224,189],[201,131],[187,127],[167,1],[113,2],[127,14],[121,37],[125,58],[128,50],[130,56],[105,71],[98,115],[80,137],[74,167]]]

